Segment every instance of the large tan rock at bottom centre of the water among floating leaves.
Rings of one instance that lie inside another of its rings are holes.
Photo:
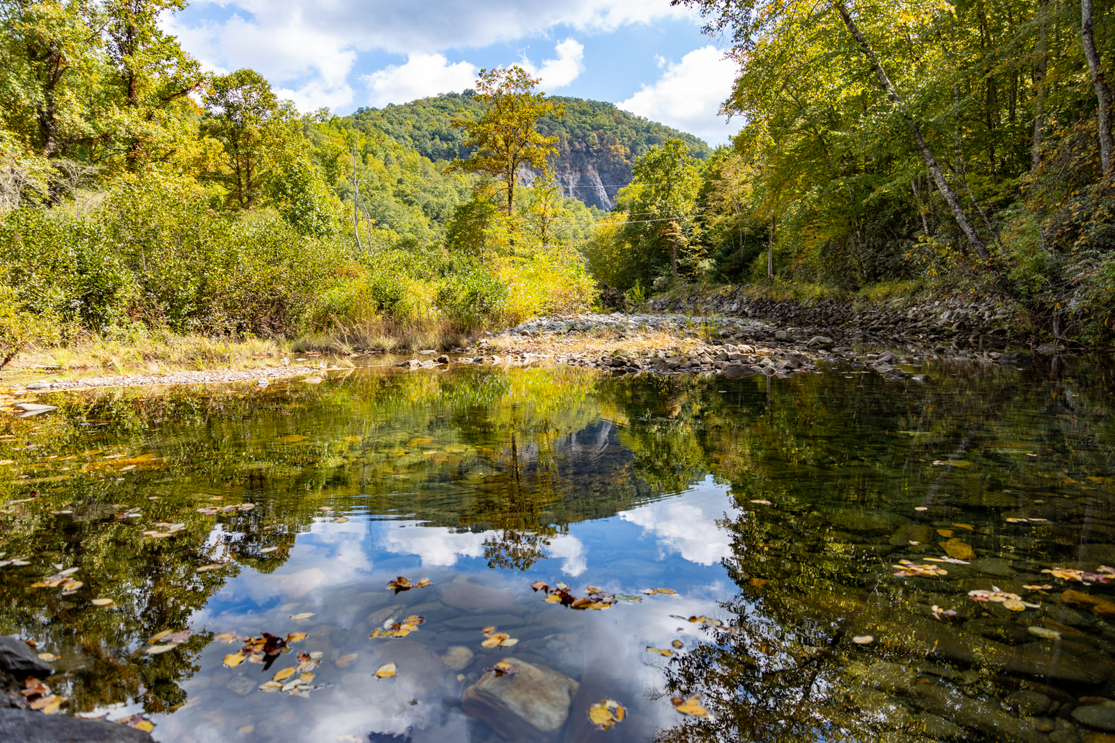
[[[511,675],[487,672],[460,696],[465,713],[517,743],[556,741],[578,683],[545,666],[506,658]]]

